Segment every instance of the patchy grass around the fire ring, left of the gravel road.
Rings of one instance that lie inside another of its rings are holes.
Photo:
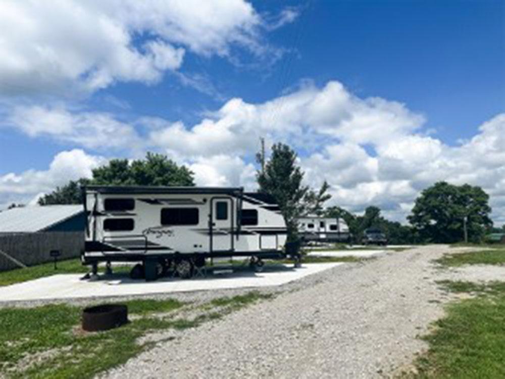
[[[80,328],[81,308],[45,305],[0,309],[0,377],[91,378],[125,363],[153,343],[138,343],[149,332],[197,327],[271,295],[250,292],[200,306],[198,316],[178,318],[174,312],[191,304],[177,300],[123,302],[131,322],[119,328],[87,333]],[[202,313],[203,312],[203,313]]]

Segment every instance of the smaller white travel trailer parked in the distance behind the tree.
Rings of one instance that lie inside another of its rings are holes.
[[[348,242],[349,227],[341,218],[305,216],[298,218],[298,233],[307,242]]]

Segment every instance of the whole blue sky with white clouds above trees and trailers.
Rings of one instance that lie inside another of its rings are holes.
[[[353,211],[373,203],[402,220],[444,179],[483,185],[505,220],[492,155],[505,131],[502,1],[62,3],[0,5],[0,26],[19,28],[0,36],[12,57],[0,63],[0,204],[147,150],[200,184],[254,186],[264,135],[298,151],[310,184],[332,179],[332,202]]]

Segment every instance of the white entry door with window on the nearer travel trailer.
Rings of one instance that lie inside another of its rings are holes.
[[[233,250],[233,201],[230,198],[211,200],[211,251]]]

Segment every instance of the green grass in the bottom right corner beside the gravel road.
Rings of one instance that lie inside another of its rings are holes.
[[[472,293],[451,303],[446,317],[423,337],[428,351],[416,361],[416,378],[505,377],[505,282],[439,282],[447,291]]]

